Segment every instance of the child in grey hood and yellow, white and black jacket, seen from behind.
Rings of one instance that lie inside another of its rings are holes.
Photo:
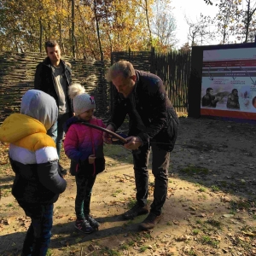
[[[44,256],[50,242],[53,204],[66,189],[61,177],[55,142],[46,131],[58,118],[52,96],[28,90],[20,113],[13,113],[0,127],[0,141],[9,143],[9,160],[15,180],[12,194],[32,220],[22,256]]]

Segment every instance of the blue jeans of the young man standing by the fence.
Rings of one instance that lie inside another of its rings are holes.
[[[62,145],[62,139],[64,137],[64,131],[63,131],[63,125],[71,117],[71,113],[63,113],[59,114],[57,121],[54,125],[52,125],[49,130],[47,131],[47,134],[49,137],[52,137],[52,139],[56,143],[57,153],[61,155],[61,145]]]

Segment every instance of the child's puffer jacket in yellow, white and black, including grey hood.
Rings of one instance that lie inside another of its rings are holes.
[[[0,127],[0,141],[9,143],[9,160],[15,172],[12,194],[20,204],[54,203],[67,186],[59,172],[55,142],[46,134],[46,127],[55,122],[57,112],[55,108],[52,111],[49,104],[54,99],[51,96],[45,98],[45,95],[39,90],[28,90],[22,98],[22,101],[26,100],[26,106],[22,108],[21,102],[21,112],[37,117],[44,124],[27,114],[14,113]],[[28,98],[32,100],[28,101]],[[43,102],[41,105],[39,100]],[[27,111],[27,105],[32,111]],[[55,107],[55,101],[52,106]]]

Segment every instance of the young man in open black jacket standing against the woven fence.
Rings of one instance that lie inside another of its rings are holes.
[[[61,49],[55,40],[45,43],[46,59],[38,64],[34,86],[55,98],[59,109],[58,120],[47,134],[56,143],[58,155],[61,153],[61,143],[64,136],[63,124],[72,114],[71,100],[68,97],[68,86],[71,84],[70,64],[61,60]]]

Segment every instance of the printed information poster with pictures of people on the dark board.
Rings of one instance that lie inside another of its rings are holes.
[[[256,119],[256,48],[203,51],[201,115]]]

